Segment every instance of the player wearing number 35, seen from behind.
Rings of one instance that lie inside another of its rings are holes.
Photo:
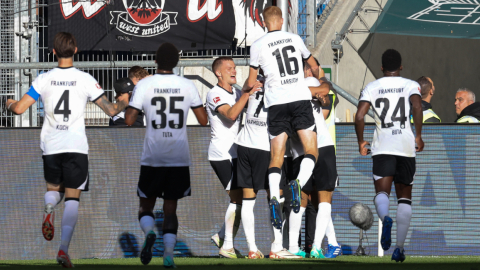
[[[148,264],[156,234],[153,208],[163,198],[163,265],[175,268],[173,250],[177,242],[177,202],[190,196],[190,153],[187,138],[187,116],[190,108],[198,122],[207,125],[207,114],[195,85],[173,74],[179,54],[171,43],[157,50],[157,73],[142,79],[135,87],[125,113],[127,125],[133,125],[143,110],[147,131],[140,161],[137,194],[140,197],[138,220],[145,233],[140,260]]]

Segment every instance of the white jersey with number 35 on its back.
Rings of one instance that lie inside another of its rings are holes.
[[[133,89],[129,107],[143,110],[147,131],[141,164],[151,167],[190,166],[187,116],[202,107],[197,88],[174,74],[155,74]]]

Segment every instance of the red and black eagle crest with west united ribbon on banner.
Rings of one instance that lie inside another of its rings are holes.
[[[177,25],[178,12],[165,12],[167,0],[123,0],[125,11],[111,11],[111,25],[125,34],[137,37],[152,37]],[[170,0],[172,1],[172,0]]]

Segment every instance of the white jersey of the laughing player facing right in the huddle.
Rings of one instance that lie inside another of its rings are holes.
[[[232,87],[232,93],[224,88],[215,85],[207,93],[207,114],[210,127],[212,128],[212,139],[208,147],[208,160],[231,160],[237,158],[237,145],[235,138],[240,126],[240,115],[235,121],[221,115],[217,109],[228,104],[235,105],[242,95],[241,90]]]

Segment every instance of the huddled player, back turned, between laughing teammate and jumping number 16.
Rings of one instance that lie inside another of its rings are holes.
[[[258,76],[263,82],[264,77]],[[262,259],[264,256],[255,244],[255,215],[253,208],[259,190],[268,191],[268,165],[270,141],[267,131],[267,108],[264,89],[251,95],[248,100],[245,126],[235,140],[237,147],[237,183],[243,189],[242,224],[248,243],[248,258]],[[282,208],[283,202],[280,202]],[[270,259],[300,258],[283,249],[282,230],[272,226],[274,240]]]

